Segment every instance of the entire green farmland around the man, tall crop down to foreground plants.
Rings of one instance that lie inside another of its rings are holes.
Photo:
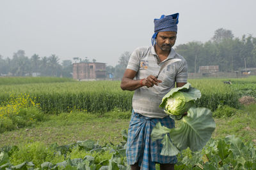
[[[238,101],[243,96],[256,96],[256,77],[231,79],[232,85],[223,81],[227,79],[189,80],[202,92],[196,105],[213,111],[217,128],[202,152],[185,150],[179,155],[176,169],[209,169],[214,164],[232,169],[231,160],[234,169],[256,168],[256,155],[249,152],[255,150],[256,105],[243,106]],[[132,94],[120,89],[120,81],[0,78],[0,152],[4,151],[0,169],[60,168],[56,166],[60,162],[66,169],[125,169],[125,130]],[[176,123],[179,126],[179,121]],[[228,135],[238,138],[225,138]],[[234,154],[234,141],[243,153]],[[221,157],[217,148],[222,145],[234,152]],[[203,159],[205,155],[208,161]],[[43,162],[51,164],[42,166]]]

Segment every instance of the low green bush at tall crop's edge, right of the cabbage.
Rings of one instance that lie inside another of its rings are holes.
[[[221,117],[232,117],[235,115],[237,110],[231,108],[230,106],[223,105],[218,106],[217,110],[212,113],[212,117],[221,118]]]

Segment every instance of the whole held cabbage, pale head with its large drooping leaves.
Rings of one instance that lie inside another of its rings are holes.
[[[160,107],[164,108],[165,113],[171,118],[181,120],[182,124],[173,129],[164,127],[159,122],[156,124],[151,138],[161,139],[161,155],[177,155],[188,147],[195,152],[209,141],[216,124],[211,110],[195,108],[195,101],[200,97],[200,90],[191,87],[190,83],[173,88],[163,97]]]

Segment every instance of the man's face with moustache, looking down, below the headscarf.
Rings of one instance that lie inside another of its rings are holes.
[[[175,44],[177,32],[166,31],[158,32],[156,37],[156,45],[163,51],[170,51]]]

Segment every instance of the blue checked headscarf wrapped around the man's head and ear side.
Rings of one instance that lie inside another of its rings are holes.
[[[174,31],[177,32],[177,24],[179,23],[179,13],[173,15],[162,15],[159,19],[154,19],[155,33],[152,36],[152,45],[156,44],[156,36],[158,32]]]

